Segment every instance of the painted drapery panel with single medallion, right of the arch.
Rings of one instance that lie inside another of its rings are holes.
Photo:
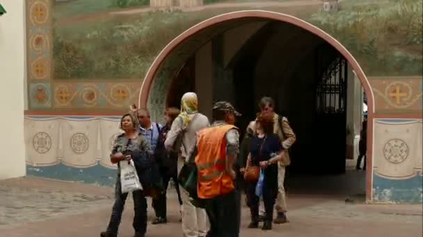
[[[374,121],[375,202],[422,202],[422,119]]]

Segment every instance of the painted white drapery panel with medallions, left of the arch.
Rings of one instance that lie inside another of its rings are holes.
[[[29,175],[111,185],[110,162],[120,117],[28,116],[25,118]]]

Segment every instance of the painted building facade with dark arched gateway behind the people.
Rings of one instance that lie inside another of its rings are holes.
[[[154,4],[159,2],[165,1]],[[317,98],[321,76],[339,58],[342,64],[335,66],[344,65],[342,70],[326,75],[326,82],[338,77],[345,91],[321,98],[339,101],[328,109],[346,119],[340,123],[342,132],[333,133],[346,141],[328,146],[332,150],[342,147],[334,155],[344,152],[346,157],[356,157],[354,139],[360,132],[364,91],[368,105],[367,201],[422,202],[421,3],[357,5],[345,0],[338,3],[337,12],[321,10],[321,1],[195,1],[195,6],[160,6],[161,10],[150,2],[116,3],[2,3],[8,13],[0,17],[0,30],[12,30],[4,24],[6,19],[19,27],[13,28],[14,36],[1,34],[7,44],[0,46],[20,53],[18,58],[12,53],[0,57],[4,62],[9,57],[15,60],[6,75],[19,78],[20,84],[10,85],[10,93],[23,94],[13,97],[19,97],[13,106],[24,109],[24,114],[14,112],[14,128],[3,129],[11,134],[22,132],[24,139],[17,136],[15,141],[21,143],[15,147],[5,137],[3,146],[18,151],[10,155],[19,158],[6,168],[10,175],[3,175],[5,170],[0,177],[22,176],[26,170],[26,175],[112,185],[115,167],[109,152],[120,132],[120,115],[137,103],[160,121],[163,109],[177,105],[178,96],[192,89],[207,116],[211,116],[214,100],[230,100],[237,107],[248,100],[248,107],[255,107],[260,96],[270,95],[300,134],[314,129],[304,124],[317,123],[319,118],[324,118],[322,127],[330,130],[330,119],[316,113],[314,103],[308,101]],[[383,14],[375,17],[374,12]],[[390,33],[392,28],[401,35]],[[19,37],[24,42],[13,40]],[[251,55],[254,60],[244,60]],[[323,58],[316,61],[319,55]],[[249,79],[243,83],[237,78]],[[248,96],[239,88],[249,91]],[[2,103],[10,106],[7,98],[12,97],[5,96]],[[307,106],[311,107],[304,109]],[[311,141],[299,142],[298,146],[306,148]],[[301,154],[298,157],[305,156]],[[298,169],[312,164],[298,160]],[[333,167],[345,166],[342,157],[321,167],[338,161]]]

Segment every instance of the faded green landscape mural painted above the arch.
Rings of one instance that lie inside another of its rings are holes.
[[[187,28],[215,15],[250,9],[283,12],[319,26],[340,40],[368,75],[422,72],[420,1],[344,0],[338,12],[322,11],[322,2],[315,0],[203,1],[200,7],[169,5],[161,10],[149,1],[116,2],[55,1],[55,79],[142,78],[163,46]]]

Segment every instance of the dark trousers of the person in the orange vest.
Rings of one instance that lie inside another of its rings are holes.
[[[206,237],[238,237],[241,196],[237,189],[216,198],[202,200],[210,221]]]

